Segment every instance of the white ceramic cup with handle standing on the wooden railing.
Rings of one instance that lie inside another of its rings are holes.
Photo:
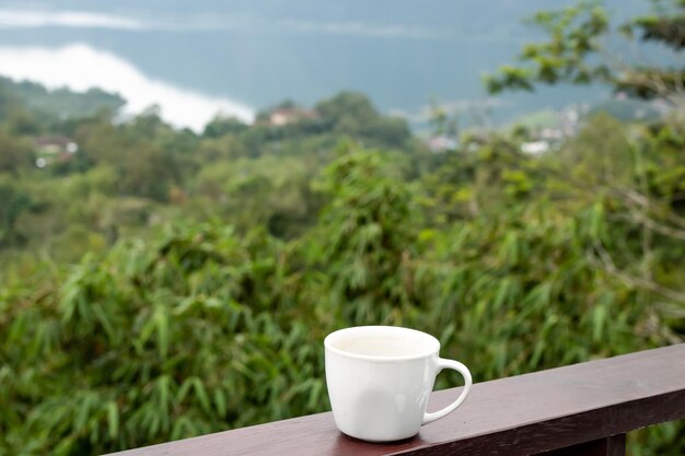
[[[352,437],[370,442],[411,437],[421,425],[453,412],[471,390],[468,369],[439,358],[440,342],[426,332],[359,326],[332,332],[324,346],[333,417]],[[450,406],[427,413],[436,376],[443,369],[458,371],[464,389]]]

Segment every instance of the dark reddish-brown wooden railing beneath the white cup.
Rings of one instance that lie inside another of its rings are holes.
[[[458,389],[433,393],[429,410]],[[617,456],[626,432],[683,418],[685,344],[677,344],[476,384],[454,413],[391,444],[342,435],[330,413],[320,413],[118,455]]]

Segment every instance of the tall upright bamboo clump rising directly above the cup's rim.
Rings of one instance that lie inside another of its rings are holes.
[[[402,324],[413,315],[406,267],[418,220],[390,167],[382,155],[349,151],[326,169],[332,199],[318,227],[324,242],[313,250],[330,278],[329,316],[345,326]]]

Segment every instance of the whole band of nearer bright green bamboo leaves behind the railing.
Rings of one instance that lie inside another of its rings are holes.
[[[353,149],[327,169],[328,203],[301,238],[178,222],[85,257],[40,299],[3,291],[0,453],[105,453],[326,410],[322,340],[349,325],[431,332],[478,381],[682,337],[682,303],[652,303],[590,256],[601,246],[646,270],[641,230],[616,220],[625,204],[565,185],[547,191],[571,202],[524,185],[520,204],[506,187],[546,178],[501,141],[486,149],[426,180],[467,188],[474,211]],[[647,272],[681,280],[682,246],[652,243]]]

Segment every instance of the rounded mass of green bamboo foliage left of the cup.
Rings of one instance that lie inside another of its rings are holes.
[[[295,305],[290,255],[264,233],[177,226],[10,306],[0,385],[21,408],[0,449],[98,454],[320,409],[323,332]]]

